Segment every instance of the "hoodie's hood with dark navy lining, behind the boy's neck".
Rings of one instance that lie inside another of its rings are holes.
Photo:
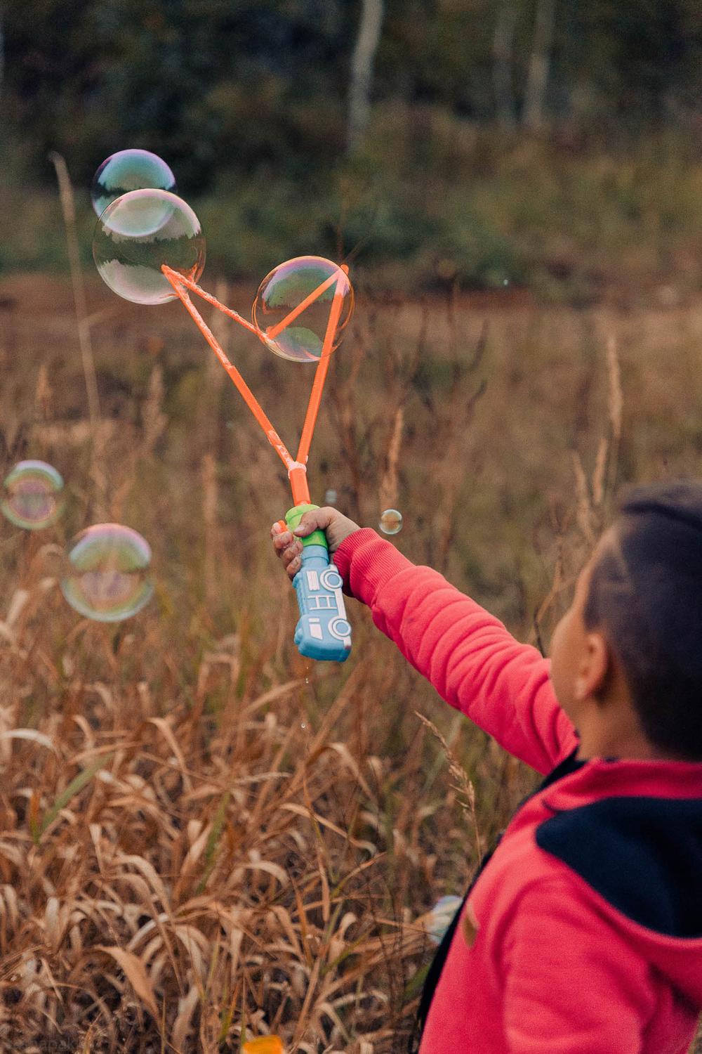
[[[536,842],[576,872],[601,911],[702,1006],[702,763],[575,752],[513,822],[541,811]]]

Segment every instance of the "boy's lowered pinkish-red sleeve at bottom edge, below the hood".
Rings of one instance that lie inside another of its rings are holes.
[[[509,1054],[640,1054],[656,1007],[648,965],[571,882],[523,894],[499,961]]]

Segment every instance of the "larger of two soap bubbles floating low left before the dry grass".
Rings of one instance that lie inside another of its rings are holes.
[[[79,614],[121,622],[140,611],[154,592],[148,542],[121,524],[95,524],[68,545],[61,591]]]

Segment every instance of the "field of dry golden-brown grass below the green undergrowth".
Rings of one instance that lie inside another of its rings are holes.
[[[370,525],[397,505],[408,557],[544,646],[616,484],[697,471],[702,310],[388,305],[360,285],[313,494]],[[244,1029],[404,1050],[418,920],[463,892],[531,774],[366,611],[344,666],[297,655],[275,456],[177,306],[97,282],[107,515],[153,544],[158,588],[115,628],[66,608],[56,550],[97,509],[69,287],[0,292],[5,464],[44,457],[71,491],[59,527],[0,535],[0,1051],[236,1051]],[[293,443],[310,374],[229,340]]]

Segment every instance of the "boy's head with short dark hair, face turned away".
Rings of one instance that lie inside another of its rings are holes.
[[[554,632],[551,678],[607,753],[638,735],[702,761],[702,483],[626,493]]]

